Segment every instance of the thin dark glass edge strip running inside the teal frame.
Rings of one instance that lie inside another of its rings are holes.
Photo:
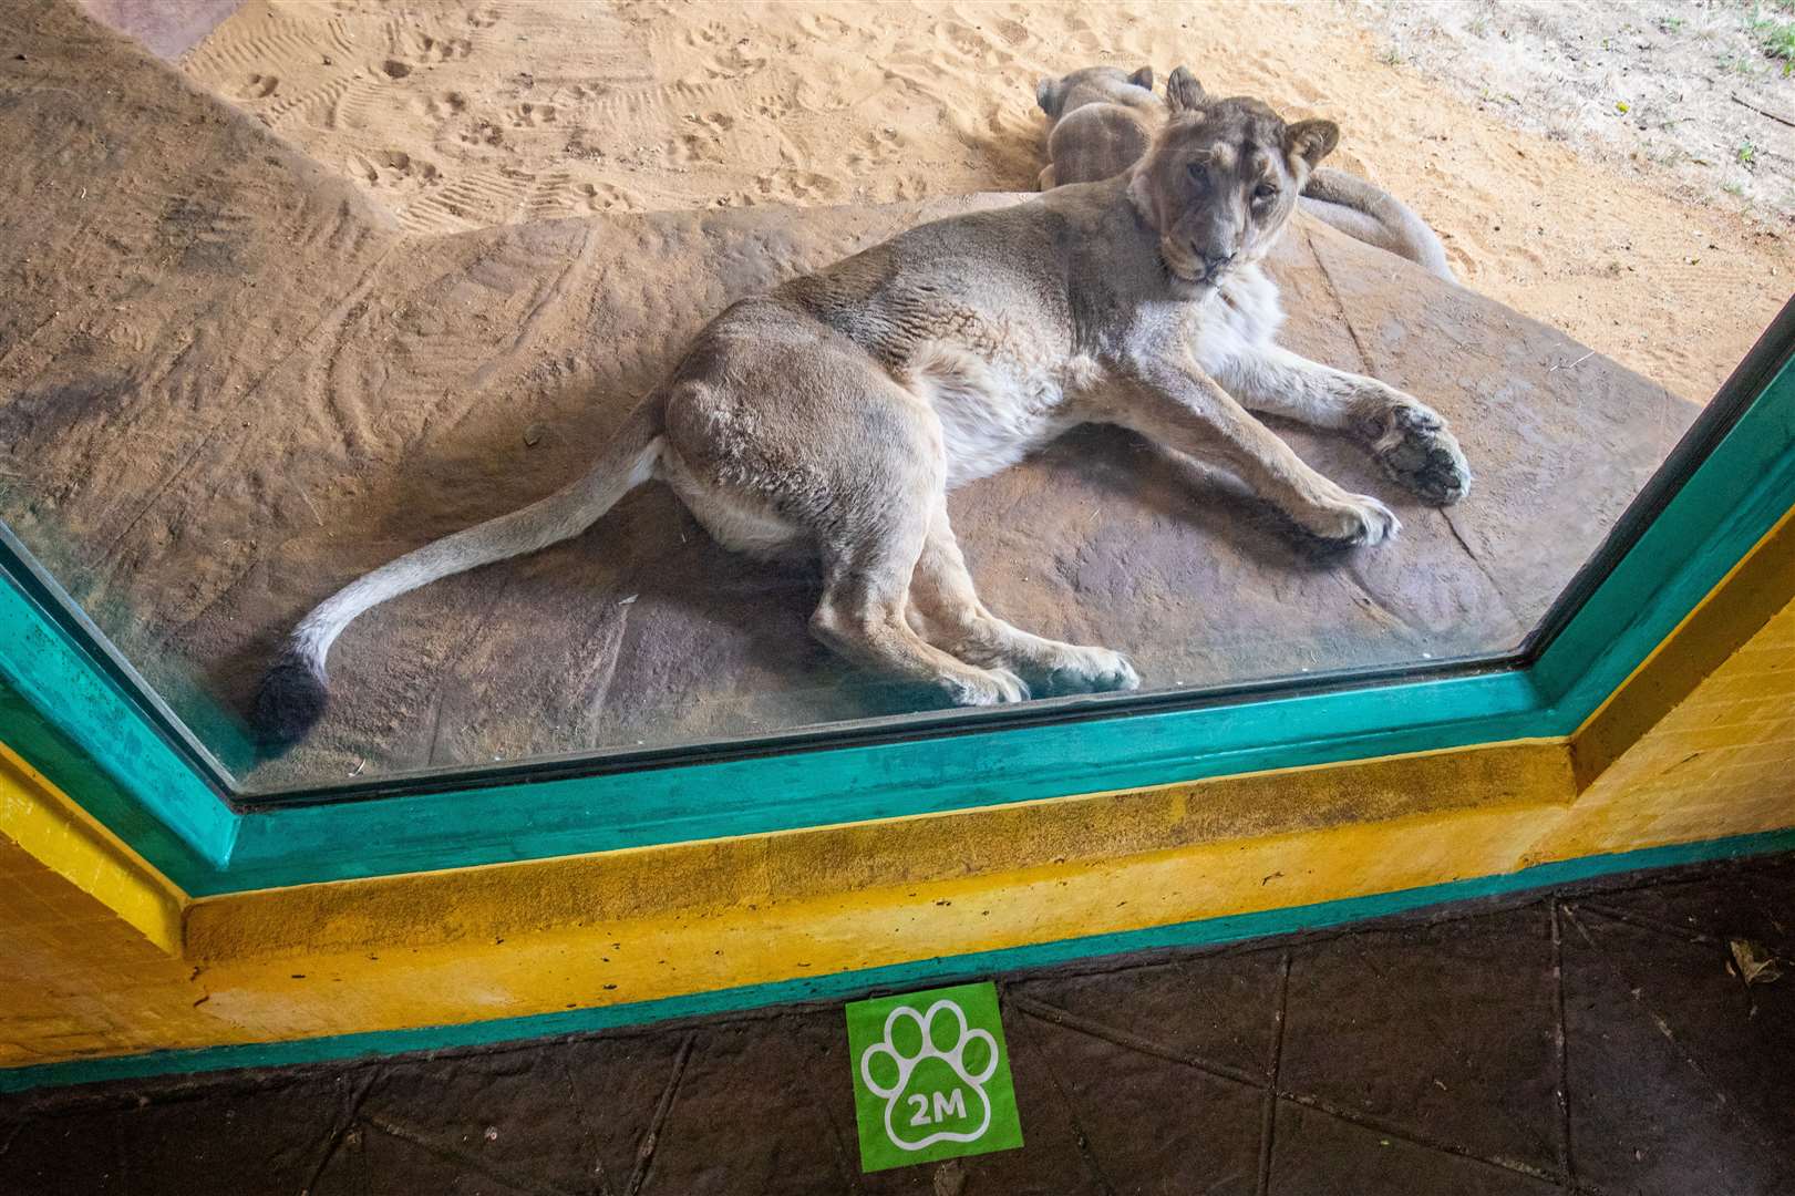
[[[63,634],[104,673],[149,722],[156,733],[192,767],[233,810],[275,810],[307,805],[336,805],[346,801],[373,801],[382,797],[420,796],[528,785],[533,781],[578,779],[617,772],[664,770],[695,763],[723,763],[757,756],[783,756],[829,749],[872,747],[892,742],[935,740],[960,734],[994,733],[1020,727],[1059,726],[1093,718],[1125,718],[1195,711],[1217,706],[1237,706],[1269,699],[1337,693],[1343,690],[1371,690],[1418,681],[1443,681],[1479,673],[1524,670],[1551,646],[1569,627],[1590,594],[1614,571],[1621,558],[1637,544],[1653,519],[1677,497],[1696,467],[1732,431],[1739,418],[1764,393],[1772,379],[1795,359],[1795,300],[1784,303],[1770,327],[1745,356],[1739,366],[1716,391],[1714,400],[1696,417],[1687,433],[1651,474],[1621,519],[1610,528],[1596,553],[1578,569],[1567,587],[1547,609],[1542,621],[1528,634],[1515,652],[1423,664],[1386,668],[1337,670],[1271,677],[1253,682],[1206,686],[1201,690],[1161,690],[1133,695],[1093,695],[1079,699],[1050,699],[1000,711],[923,711],[892,715],[851,724],[804,727],[763,736],[743,736],[713,743],[671,745],[664,749],[612,749],[538,756],[515,763],[472,769],[434,769],[384,774],[350,785],[296,787],[287,790],[246,788],[212,754],[187,724],[144,681],[142,673],[118,652],[109,638],[81,611],[68,593],[50,576],[0,521],[0,573],[25,593],[56,623]]]

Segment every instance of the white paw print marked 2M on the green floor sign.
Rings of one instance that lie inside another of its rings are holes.
[[[898,1006],[885,1036],[860,1056],[860,1079],[885,1101],[885,1133],[906,1151],[978,1140],[991,1128],[985,1083],[996,1070],[996,1040],[971,1029],[953,1000],[926,1013]]]

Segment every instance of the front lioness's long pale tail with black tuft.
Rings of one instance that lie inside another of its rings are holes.
[[[438,578],[574,537],[648,481],[661,454],[659,408],[655,399],[643,402],[583,478],[522,510],[416,548],[350,582],[300,620],[255,697],[253,726],[262,745],[282,749],[323,717],[328,693],[325,657],[357,614]]]

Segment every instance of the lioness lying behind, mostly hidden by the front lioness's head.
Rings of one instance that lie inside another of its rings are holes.
[[[1152,93],[1152,68],[1131,75],[1116,66],[1086,66],[1061,79],[1041,79],[1036,104],[1048,117],[1046,167],[1041,190],[1093,183],[1134,165],[1154,129],[1172,113],[1203,104],[1203,86],[1178,66],[1165,81],[1165,99]],[[1445,246],[1420,215],[1382,187],[1357,174],[1321,167],[1303,183],[1305,212],[1348,237],[1405,257],[1429,273],[1458,282]]]

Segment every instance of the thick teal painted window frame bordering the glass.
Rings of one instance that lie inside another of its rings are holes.
[[[1563,736],[1795,508],[1791,347],[1795,303],[1716,399],[1738,411],[1725,435],[1705,454],[1686,440],[1660,470],[1671,485],[1648,488],[1659,508],[1639,539],[1612,567],[1598,553],[1601,576],[1580,575],[1537,652],[1486,672],[1179,708],[1120,699],[1064,722],[975,718],[921,740],[551,779],[524,769],[506,783],[445,776],[379,801],[244,810],[145,713],[115,659],[5,585],[0,740],[181,889],[210,896]]]

